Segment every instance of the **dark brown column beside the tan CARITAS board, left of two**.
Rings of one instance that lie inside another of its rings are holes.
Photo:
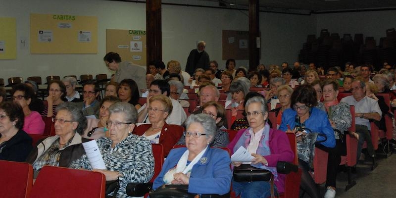
[[[162,60],[161,0],[146,1],[147,71],[148,63]]]

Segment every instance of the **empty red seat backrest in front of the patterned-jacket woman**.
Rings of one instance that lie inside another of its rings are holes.
[[[103,198],[105,188],[102,173],[46,165],[40,170],[30,198]]]

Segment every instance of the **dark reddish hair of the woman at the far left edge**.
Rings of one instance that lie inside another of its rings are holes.
[[[5,101],[0,103],[0,109],[5,112],[11,122],[16,121],[16,128],[22,130],[25,121],[25,114],[23,114],[21,105],[16,102]]]

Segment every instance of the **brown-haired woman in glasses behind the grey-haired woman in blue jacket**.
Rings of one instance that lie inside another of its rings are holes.
[[[216,122],[217,131],[210,147],[227,147],[230,143],[229,135],[227,132],[222,130],[227,127],[227,118],[224,106],[215,101],[206,102],[202,105],[201,113],[209,115]],[[186,145],[186,137],[182,136],[179,142],[177,142],[177,145]]]

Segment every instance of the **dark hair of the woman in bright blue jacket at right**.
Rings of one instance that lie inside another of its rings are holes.
[[[297,102],[303,103],[306,106],[312,107],[318,104],[316,100],[316,91],[310,85],[300,85],[293,92],[290,106],[294,106]]]

